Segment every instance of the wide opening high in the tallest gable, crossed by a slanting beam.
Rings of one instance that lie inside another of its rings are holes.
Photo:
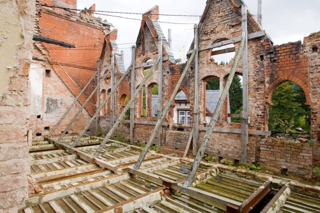
[[[218,65],[227,65],[235,55],[234,44],[227,44],[212,49],[211,60]]]

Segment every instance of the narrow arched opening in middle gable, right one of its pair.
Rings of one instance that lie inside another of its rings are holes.
[[[157,104],[158,104],[158,84],[156,83],[151,83],[148,85],[148,92],[147,93],[147,114],[151,117],[151,118],[155,118],[158,114],[157,112]]]

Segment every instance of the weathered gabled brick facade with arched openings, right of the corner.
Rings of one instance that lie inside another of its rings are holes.
[[[158,38],[162,36],[159,30],[157,16],[155,11],[158,7],[153,7],[146,14],[142,15],[141,28],[135,47],[135,88],[138,87],[143,75],[143,63],[148,59],[155,60],[158,55]],[[152,16],[152,17],[151,17]],[[152,20],[151,20],[152,19]],[[213,21],[214,20],[214,21]],[[262,31],[260,24],[247,11],[247,31],[248,31],[248,112],[250,123],[248,124],[249,138],[247,143],[247,162],[258,162],[263,156],[261,147],[265,143],[265,137],[268,136],[268,110],[272,105],[271,96],[274,89],[285,81],[292,81],[301,86],[306,96],[306,103],[311,107],[311,139],[317,141],[312,149],[312,164],[319,164],[318,149],[318,129],[319,129],[319,96],[317,88],[319,82],[318,74],[318,33],[313,33],[300,41],[289,42],[282,45],[274,45],[271,39]],[[262,33],[263,32],[263,33]],[[259,36],[252,36],[260,33]],[[241,8],[235,5],[231,0],[208,0],[205,10],[198,25],[198,45],[199,51],[199,137],[197,146],[202,142],[207,129],[206,109],[205,109],[205,84],[209,78],[217,78],[220,82],[220,88],[224,87],[228,74],[231,70],[233,60],[228,64],[218,64],[211,58],[212,49],[205,47],[211,44],[238,38],[241,36]],[[234,50],[237,51],[239,42],[234,44]],[[190,49],[193,49],[191,44]],[[167,53],[167,54],[166,54]],[[176,61],[170,60],[170,50],[163,47],[163,57],[168,60],[163,61],[163,92],[162,107],[169,99],[172,91],[181,75],[185,64],[176,64]],[[241,59],[240,59],[241,61]],[[150,66],[149,66],[150,67]],[[115,98],[115,104],[121,102],[122,94],[130,94],[130,74],[120,85],[123,85],[119,91],[118,98]],[[242,63],[239,62],[236,74],[242,74]],[[133,141],[147,142],[149,135],[153,131],[157,119],[151,117],[151,86],[158,84],[158,66],[155,66],[153,74],[146,81],[146,115],[142,116],[142,95],[135,100],[135,126]],[[127,91],[126,91],[127,89]],[[181,138],[181,134],[190,134],[190,127],[193,122],[194,107],[194,63],[183,79],[179,88],[186,95],[186,103],[190,105],[191,124],[184,128],[184,132],[173,134],[171,132],[176,126],[173,122],[174,106],[173,102],[165,117],[168,126],[162,126],[161,145],[174,147],[174,141]],[[123,102],[123,101],[122,101]],[[120,109],[116,105],[115,110]],[[119,115],[120,111],[116,112]],[[216,128],[214,129],[210,141],[208,142],[206,153],[215,156],[216,159],[240,160],[241,156],[241,124],[228,121],[227,104],[220,112]],[[101,121],[102,122],[102,121]],[[103,121],[105,124],[108,122]],[[153,122],[153,123],[152,123]],[[173,125],[174,124],[174,125]],[[110,126],[109,126],[110,127]],[[170,132],[169,132],[170,131]],[[121,133],[126,139],[129,138],[129,122],[122,122],[117,128],[115,135]],[[175,138],[174,138],[175,137]],[[181,146],[185,147],[187,140],[183,139]],[[302,144],[298,146],[304,146]],[[263,153],[265,154],[265,153]],[[264,156],[265,157],[265,156]],[[308,172],[310,172],[308,170]]]

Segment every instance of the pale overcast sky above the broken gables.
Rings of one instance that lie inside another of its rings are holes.
[[[89,8],[95,3],[95,10],[143,13],[154,5],[159,6],[160,14],[202,15],[206,0],[77,0],[77,8]],[[257,14],[257,0],[244,0],[252,14]],[[289,41],[303,41],[303,37],[320,30],[320,0],[262,0],[262,27],[274,44]],[[123,17],[141,19],[141,15],[108,13]],[[111,22],[118,29],[116,42],[135,42],[141,21],[95,14]],[[167,30],[172,30],[172,52],[175,58],[184,56],[193,39],[193,24],[199,17],[179,17],[160,15],[158,21],[191,24],[160,23],[167,38]],[[192,24],[193,23],[193,24]],[[132,44],[119,45],[123,48],[125,66],[131,59]]]

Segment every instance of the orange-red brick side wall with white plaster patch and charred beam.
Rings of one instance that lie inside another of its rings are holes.
[[[76,9],[76,0],[38,0],[36,5],[36,35],[74,45],[74,48],[52,43],[34,41],[34,57],[31,72],[31,118],[33,136],[47,135],[64,114],[74,98],[80,93],[96,72],[97,58],[101,53],[104,34],[109,25],[95,18],[92,11],[76,13],[54,6]],[[53,7],[51,7],[53,6]],[[94,10],[92,5],[91,10]],[[89,55],[89,57],[88,57]],[[44,61],[42,61],[44,60]],[[41,85],[42,84],[42,85]],[[64,118],[54,135],[61,134],[75,113],[96,85],[96,77],[84,90],[77,103]],[[68,130],[68,134],[79,133],[95,113],[96,94]],[[93,128],[90,129],[94,131]]]

